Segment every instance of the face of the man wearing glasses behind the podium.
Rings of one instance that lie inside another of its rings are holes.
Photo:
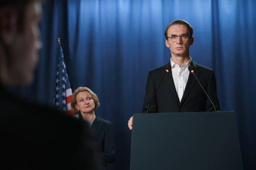
[[[169,27],[167,35],[190,35],[189,29],[185,25],[176,24]],[[182,40],[180,37],[175,42],[165,40],[166,47],[169,47],[172,57],[188,57],[189,46],[194,42],[194,37],[188,37],[187,40]]]

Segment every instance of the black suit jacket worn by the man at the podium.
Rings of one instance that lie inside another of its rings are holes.
[[[194,73],[212,100],[216,110],[220,110],[214,71],[210,68],[198,65],[193,61],[191,62],[191,65],[195,67]],[[167,72],[164,77],[166,69],[168,69],[169,72]],[[163,77],[164,79],[159,86]],[[156,92],[158,86],[159,89]],[[179,97],[177,95],[172,77],[170,62],[162,67],[156,68],[155,70],[151,70],[148,73],[146,93],[142,109],[143,113],[147,112],[150,102],[151,105],[148,112],[214,111],[214,107],[212,106],[210,100],[207,98],[207,95],[205,95],[202,87],[191,72],[189,73],[182,100],[179,102]]]

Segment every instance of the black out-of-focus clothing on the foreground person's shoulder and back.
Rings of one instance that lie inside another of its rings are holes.
[[[13,95],[1,84],[0,94],[0,169],[99,169],[84,121]]]

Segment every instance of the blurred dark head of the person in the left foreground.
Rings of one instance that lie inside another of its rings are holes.
[[[41,49],[38,24],[42,0],[0,2],[0,80],[10,85],[27,85]]]

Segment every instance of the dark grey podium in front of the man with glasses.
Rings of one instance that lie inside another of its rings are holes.
[[[235,112],[134,114],[130,170],[243,170]]]

